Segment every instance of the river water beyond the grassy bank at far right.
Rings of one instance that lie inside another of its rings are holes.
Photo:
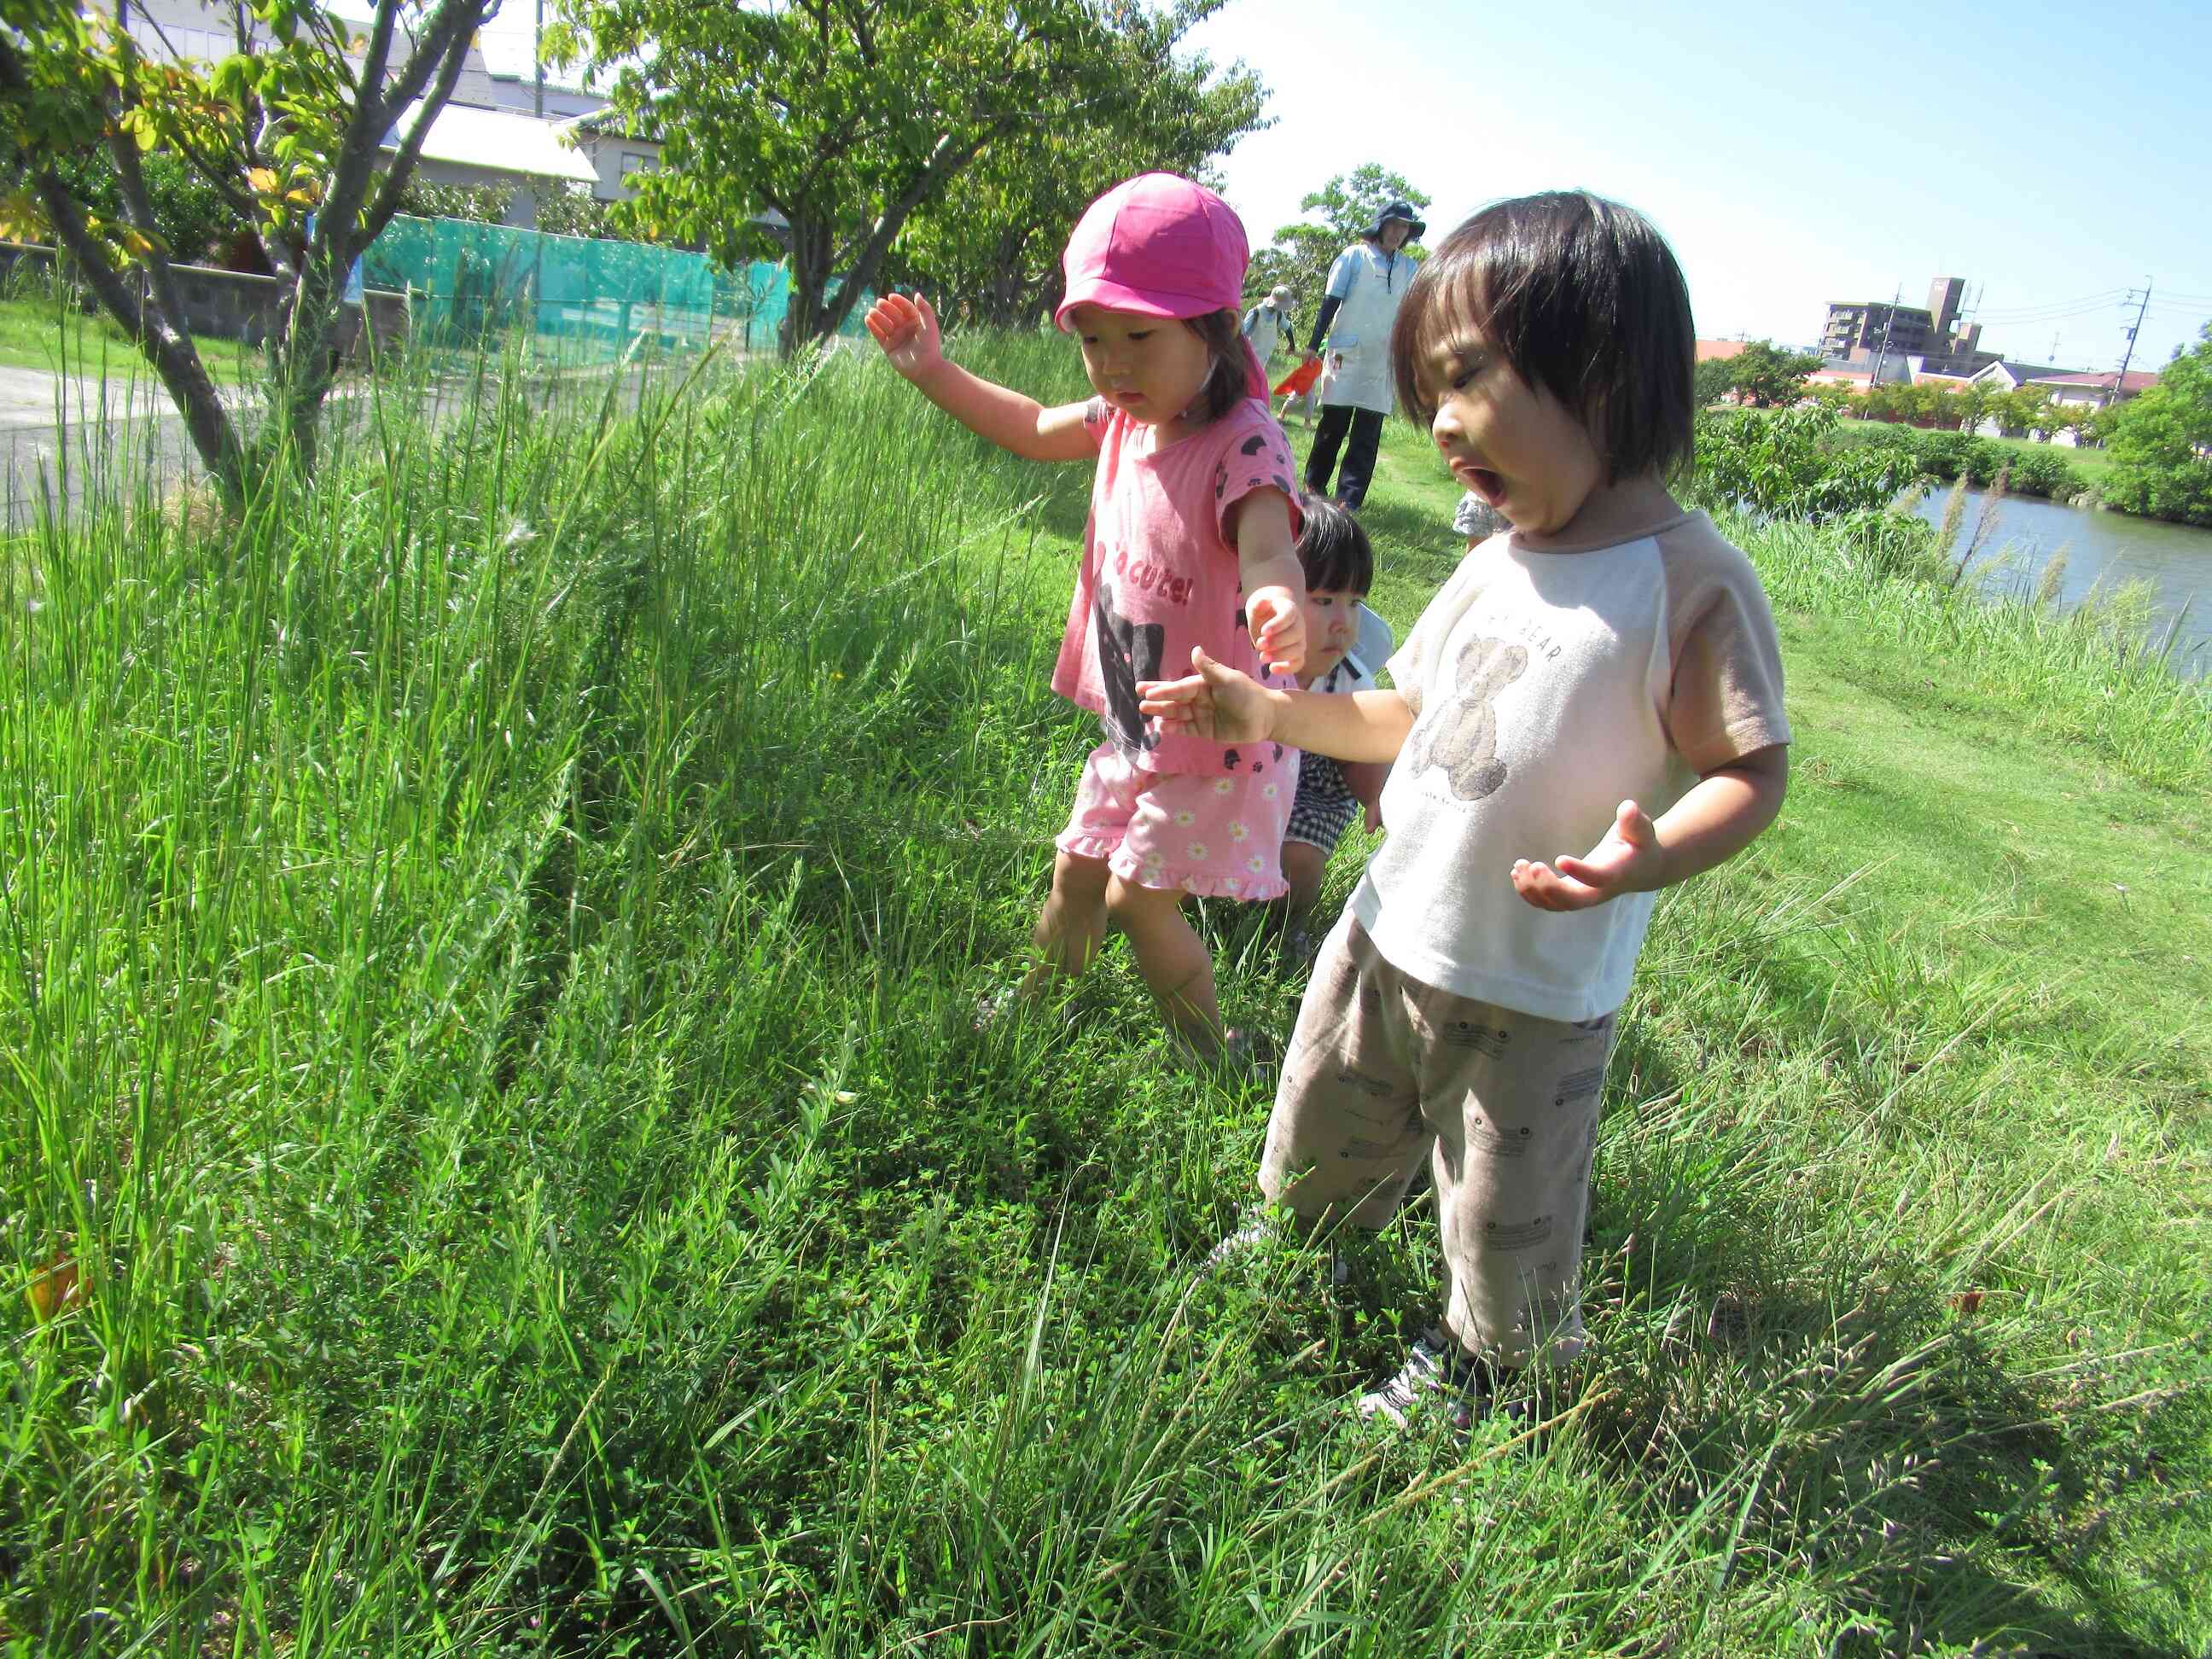
[[[1913,511],[1929,524],[1940,524],[1947,493],[1931,493]],[[1973,535],[1980,511],[1982,491],[1969,489],[1960,546]],[[2066,555],[2062,604],[2108,595],[2121,582],[2148,582],[2150,644],[2163,644],[2168,630],[2174,630],[2168,657],[2174,672],[2183,679],[2212,679],[2212,531],[2006,495],[1997,502],[1997,522],[1982,540],[1973,568],[1989,595],[2033,595],[2044,566],[2059,553]]]

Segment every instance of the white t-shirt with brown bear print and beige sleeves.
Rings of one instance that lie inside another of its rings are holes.
[[[1657,818],[1701,772],[1790,741],[1765,591],[1703,513],[1604,546],[1493,535],[1389,672],[1413,730],[1349,909],[1402,973],[1546,1020],[1626,1000],[1655,894],[1544,911],[1513,860],[1579,858],[1621,801]]]

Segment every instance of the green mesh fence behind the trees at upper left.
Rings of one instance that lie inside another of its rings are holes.
[[[482,345],[529,330],[584,358],[622,356],[639,338],[664,349],[726,341],[772,352],[792,303],[783,265],[723,270],[681,248],[467,219],[400,215],[361,263],[369,288],[411,296],[416,334],[434,345]],[[843,334],[863,332],[869,299],[860,294]]]

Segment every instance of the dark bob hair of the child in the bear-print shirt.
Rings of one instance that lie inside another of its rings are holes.
[[[1606,482],[1688,469],[1697,330],[1674,250],[1635,208],[1586,190],[1495,201],[1422,263],[1389,354],[1398,405],[1422,425],[1438,347],[1473,323],[1531,387],[1575,414]]]

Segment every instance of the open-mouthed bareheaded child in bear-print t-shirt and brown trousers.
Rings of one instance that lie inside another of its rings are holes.
[[[1429,602],[1396,690],[1272,690],[1203,657],[1141,688],[1164,730],[1398,761],[1389,841],[1321,949],[1259,1172],[1307,1223],[1380,1228],[1429,1161],[1442,1327],[1360,1416],[1464,1425],[1582,1352],[1599,1088],[1652,900],[1783,803],[1765,593],[1668,495],[1692,352],[1681,268],[1641,215],[1577,192],[1484,208],[1413,279],[1391,372],[1511,531]]]

